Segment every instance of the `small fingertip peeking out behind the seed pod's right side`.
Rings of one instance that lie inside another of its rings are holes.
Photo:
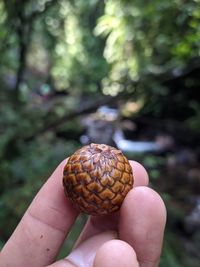
[[[129,160],[133,170],[134,187],[147,186],[149,184],[149,176],[146,169],[137,161]]]

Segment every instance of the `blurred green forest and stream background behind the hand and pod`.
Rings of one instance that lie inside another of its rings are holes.
[[[0,85],[1,247],[56,165],[98,142],[164,198],[160,266],[200,266],[200,0],[0,0]]]

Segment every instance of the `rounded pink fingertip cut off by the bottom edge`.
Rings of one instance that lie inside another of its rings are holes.
[[[120,252],[120,253],[119,253]],[[104,243],[96,253],[94,267],[138,267],[134,249],[122,240],[110,240]]]

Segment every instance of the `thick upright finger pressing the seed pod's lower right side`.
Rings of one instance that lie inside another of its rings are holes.
[[[156,267],[162,249],[166,208],[148,187],[131,190],[120,210],[119,238],[135,250],[140,267]]]

